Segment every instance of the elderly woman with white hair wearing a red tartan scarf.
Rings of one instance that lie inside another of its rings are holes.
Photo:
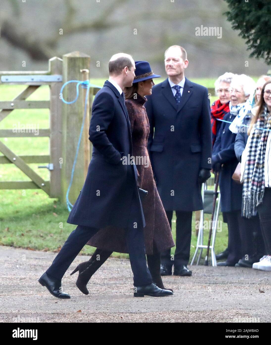
[[[230,83],[234,77],[233,73],[226,72],[222,76],[218,77],[215,81],[215,92],[218,99],[211,106],[211,124],[212,124],[212,139],[213,145],[216,140],[216,134],[219,131],[221,121],[224,115],[227,114],[230,102]]]

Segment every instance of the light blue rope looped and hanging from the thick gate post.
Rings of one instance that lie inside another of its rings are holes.
[[[76,84],[76,97],[73,101],[68,102],[63,98],[63,89],[66,85],[68,85],[69,83],[77,83]],[[60,90],[60,97],[62,99],[62,101],[66,104],[72,104],[75,103],[78,99],[79,96],[79,86],[81,85],[81,87],[83,89],[87,89],[86,92],[86,99],[85,99],[85,111],[84,111],[84,118],[83,118],[83,122],[82,122],[82,126],[81,126],[81,130],[80,130],[80,135],[79,135],[79,140],[78,140],[78,144],[77,144],[77,149],[76,149],[76,154],[75,154],[75,158],[74,158],[74,162],[73,162],[73,168],[72,168],[72,174],[71,174],[71,180],[69,182],[69,186],[67,189],[67,193],[66,193],[66,204],[67,204],[67,208],[69,211],[72,210],[73,208],[73,204],[70,203],[69,201],[69,191],[71,189],[72,183],[73,183],[73,176],[74,176],[74,170],[75,170],[75,165],[76,165],[76,161],[77,161],[77,157],[78,157],[78,152],[79,152],[79,147],[80,147],[80,142],[81,142],[81,138],[82,138],[82,133],[83,133],[83,129],[84,129],[84,123],[85,123],[85,118],[87,115],[87,100],[88,100],[88,95],[89,95],[89,89],[91,87],[97,87],[99,89],[101,89],[100,86],[94,85],[94,84],[90,84],[89,80],[85,80],[85,81],[80,81],[80,80],[69,80],[67,82],[65,82],[65,84],[62,86],[61,90]]]

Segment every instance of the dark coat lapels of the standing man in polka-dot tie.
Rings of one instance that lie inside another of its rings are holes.
[[[162,93],[165,96],[165,98],[167,99],[167,101],[170,102],[170,104],[172,105],[172,107],[177,111],[181,111],[183,106],[185,105],[185,103],[188,101],[188,99],[191,97],[192,93],[193,93],[193,83],[188,80],[187,78],[185,78],[185,83],[184,83],[184,89],[183,89],[183,94],[181,97],[181,101],[177,106],[176,100],[173,96],[171,87],[170,87],[170,83],[168,78],[165,79],[162,82]]]

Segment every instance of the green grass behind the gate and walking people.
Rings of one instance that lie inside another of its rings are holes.
[[[162,78],[159,78],[162,79]],[[95,85],[102,86],[105,79],[91,79]],[[213,79],[193,80],[207,87],[212,87]],[[159,81],[158,81],[159,82]],[[0,100],[12,100],[25,86],[0,85]],[[48,100],[48,87],[40,87],[29,100]],[[212,101],[212,100],[211,100]],[[14,124],[35,124],[39,129],[49,127],[49,111],[46,109],[13,110],[0,122],[0,129],[12,129]],[[0,138],[17,155],[48,155],[48,138]],[[0,153],[1,155],[1,153]],[[42,164],[31,164],[37,174],[45,180],[49,179],[47,169],[39,169]],[[16,181],[30,179],[17,167],[11,164],[0,165],[1,181]],[[58,251],[68,235],[76,228],[66,223],[68,218],[66,205],[57,199],[49,198],[41,189],[0,190],[0,245],[37,250]],[[206,215],[205,220],[209,220]],[[219,216],[222,221],[222,216]],[[194,214],[193,223],[194,224]],[[175,214],[173,216],[172,232],[175,240]],[[208,230],[204,230],[207,242]],[[228,242],[227,225],[223,223],[222,231],[217,233],[216,252],[224,250]],[[191,257],[196,246],[195,230],[192,231]],[[85,246],[81,254],[91,254],[95,248]],[[172,248],[172,253],[174,248]],[[113,253],[115,257],[128,257],[127,254]]]

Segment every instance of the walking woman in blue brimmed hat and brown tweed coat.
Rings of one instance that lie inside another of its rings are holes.
[[[141,65],[141,66],[140,66]],[[144,227],[145,252],[153,282],[164,289],[160,275],[160,253],[174,247],[169,222],[167,220],[162,201],[158,194],[147,151],[149,136],[149,120],[144,107],[147,101],[145,95],[151,95],[154,85],[154,75],[147,61],[135,61],[135,78],[133,85],[124,90],[125,105],[127,107],[132,134],[133,156],[138,170],[138,186],[148,191],[148,195],[142,200],[142,208],[146,226]],[[149,70],[143,75],[137,75],[142,68]],[[139,71],[139,72],[138,72]],[[140,159],[140,158],[141,159]],[[130,160],[129,160],[130,161]],[[89,261],[80,263],[71,273],[79,270],[76,286],[84,294],[88,294],[86,284],[96,270],[106,261],[112,252],[128,253],[125,228],[106,227],[98,231],[87,243],[97,247]],[[114,234],[112,236],[112,234]]]

